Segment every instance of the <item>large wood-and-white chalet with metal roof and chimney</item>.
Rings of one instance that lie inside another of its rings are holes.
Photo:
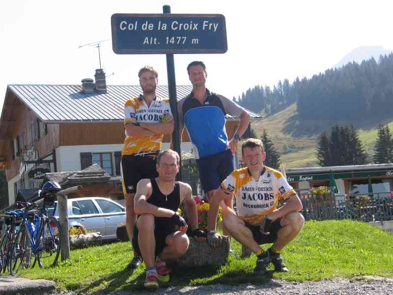
[[[177,86],[177,97],[191,90]],[[159,98],[168,97],[167,86],[158,86],[156,92]],[[19,190],[40,187],[45,174],[83,171],[93,164],[110,176],[107,182],[113,187],[108,193],[121,195],[124,104],[140,93],[139,85],[107,86],[102,69],[96,70],[95,83],[83,79],[82,85],[8,85],[0,117],[0,170],[6,172],[9,204]],[[238,120],[227,116],[229,138]],[[165,136],[163,148],[168,141]],[[189,141],[184,132],[183,151],[192,148]],[[84,196],[107,192],[95,187]]]

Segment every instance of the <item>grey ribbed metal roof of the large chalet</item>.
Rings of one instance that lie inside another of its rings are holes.
[[[139,85],[107,86],[106,92],[94,93],[83,93],[81,85],[14,84],[8,89],[45,123],[123,121],[125,102],[142,93]],[[192,89],[191,85],[177,86],[177,97],[188,95]],[[168,86],[158,86],[156,93],[159,98],[168,98]],[[247,112],[252,118],[262,118]]]

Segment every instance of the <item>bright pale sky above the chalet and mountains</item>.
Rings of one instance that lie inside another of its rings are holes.
[[[255,85],[311,77],[360,46],[393,49],[393,1],[47,1],[0,2],[0,107],[7,84],[80,84],[99,68],[98,50],[81,45],[107,40],[114,13],[223,14],[225,54],[174,55],[177,85],[189,85],[187,64],[203,60],[206,86],[232,98]],[[116,55],[101,43],[108,85],[138,85],[152,65],[167,85],[165,55]]]

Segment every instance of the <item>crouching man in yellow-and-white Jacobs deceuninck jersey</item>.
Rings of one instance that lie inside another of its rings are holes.
[[[225,208],[223,227],[256,254],[254,273],[265,275],[270,263],[276,271],[289,271],[280,253],[303,228],[304,217],[298,212],[302,203],[279,171],[263,165],[266,152],[260,140],[245,141],[242,157],[247,167],[233,171],[210,201],[208,243],[212,247],[220,244],[221,236],[214,231],[218,206],[221,200],[235,194],[237,215]],[[286,203],[277,209],[280,198]],[[273,245],[263,251],[259,245],[267,243]]]

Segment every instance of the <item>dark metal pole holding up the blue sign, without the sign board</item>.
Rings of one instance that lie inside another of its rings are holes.
[[[170,6],[163,6],[163,13],[170,13]],[[179,173],[176,175],[177,181],[182,181],[182,166],[181,166],[181,148],[179,142],[179,120],[177,117],[177,95],[176,95],[176,80],[175,80],[175,66],[173,54],[167,54],[167,73],[168,73],[168,93],[169,93],[169,103],[172,110],[172,115],[175,120],[175,127],[172,133],[172,144],[173,150],[177,151],[180,157],[180,169]]]

